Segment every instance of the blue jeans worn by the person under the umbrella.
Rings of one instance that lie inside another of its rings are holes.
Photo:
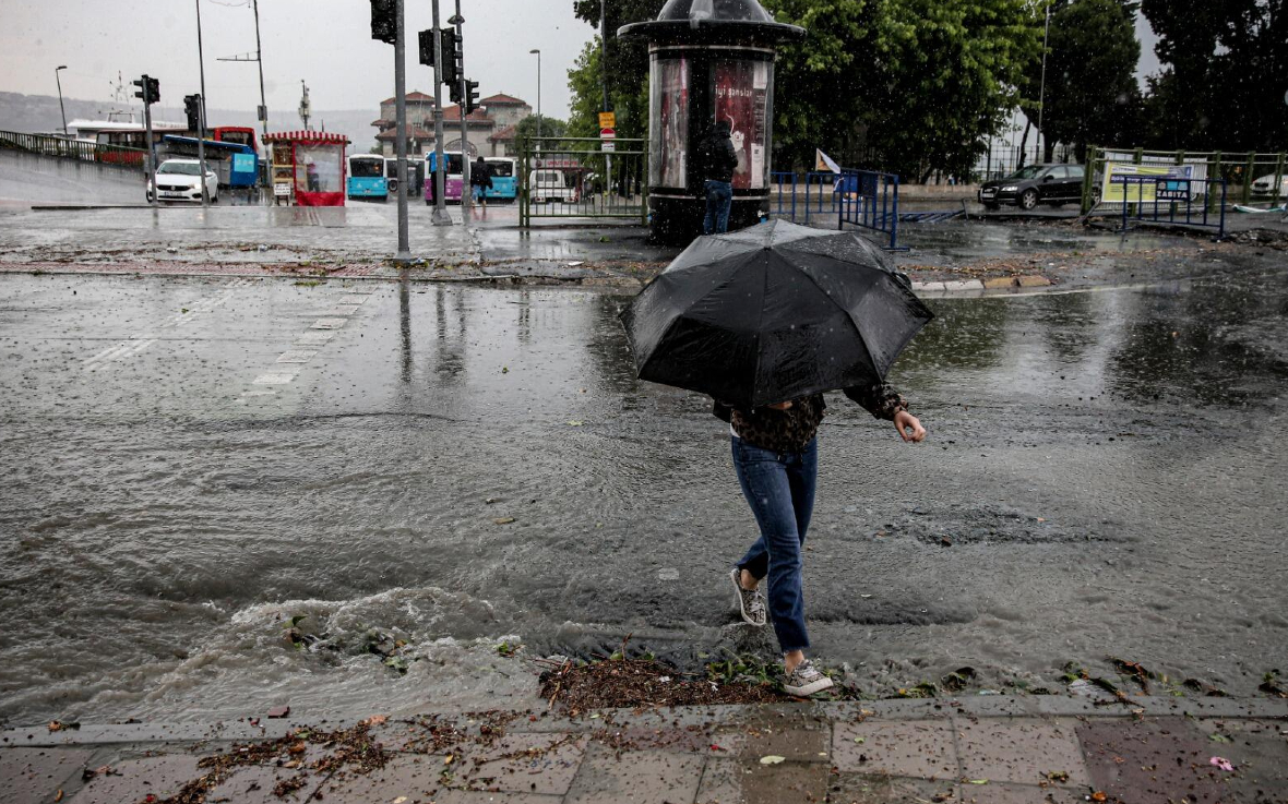
[[[818,440],[799,453],[774,453],[734,436],[733,467],[760,526],[737,566],[757,579],[769,576],[769,615],[783,652],[808,648],[801,549],[814,513]]]

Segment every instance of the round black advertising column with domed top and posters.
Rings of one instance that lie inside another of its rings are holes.
[[[618,30],[649,41],[649,212],[653,239],[687,243],[706,210],[698,149],[716,120],[733,126],[738,167],[729,228],[769,212],[778,42],[805,30],[757,0],[670,0],[653,22]]]

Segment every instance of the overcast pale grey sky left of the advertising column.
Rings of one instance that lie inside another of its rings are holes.
[[[198,91],[196,3],[206,59],[206,105],[254,111],[259,75],[254,62],[219,62],[254,53],[251,0],[0,0],[0,90],[54,95],[54,68],[63,95],[112,98],[117,71],[129,82],[148,73],[161,96],[178,104]],[[455,0],[440,0],[443,23]],[[572,0],[461,0],[465,72],[483,98],[506,93],[546,114],[568,116],[568,77],[595,31],[576,19]],[[430,0],[406,0],[410,46],[407,90],[433,93],[431,71],[416,60],[415,31],[431,27]],[[259,0],[264,82],[272,109],[299,105],[300,80],[314,111],[370,108],[393,95],[393,46],[371,39],[368,0]],[[130,87],[133,91],[133,87]],[[446,94],[444,94],[446,96]]]

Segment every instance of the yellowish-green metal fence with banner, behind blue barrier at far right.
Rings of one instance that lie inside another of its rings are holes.
[[[1229,201],[1248,205],[1269,202],[1276,206],[1288,198],[1288,158],[1278,153],[1230,153],[1221,151],[1145,151],[1144,148],[1087,148],[1086,179],[1082,187],[1082,212],[1118,212],[1117,205],[1106,206],[1100,194],[1105,165],[1144,165],[1151,167],[1193,166],[1204,180],[1221,180],[1227,187],[1222,205]],[[1215,203],[1215,193],[1208,193],[1208,203]]]

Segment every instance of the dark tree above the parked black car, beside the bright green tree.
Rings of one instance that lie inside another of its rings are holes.
[[[1135,142],[1140,111],[1136,63],[1140,42],[1135,4],[1119,0],[1059,0],[1051,10],[1046,93],[1042,62],[1025,73],[1021,107],[1030,121],[1042,108],[1046,161],[1056,143],[1075,144],[1078,161],[1088,144]]]

